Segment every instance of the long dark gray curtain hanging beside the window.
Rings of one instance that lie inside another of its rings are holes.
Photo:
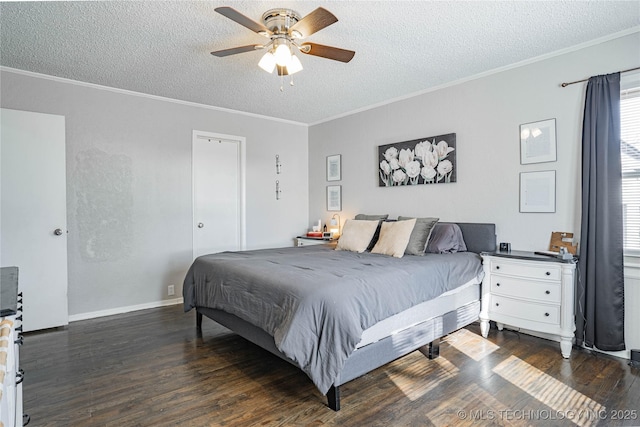
[[[587,84],[580,240],[576,342],[624,350],[620,73]]]

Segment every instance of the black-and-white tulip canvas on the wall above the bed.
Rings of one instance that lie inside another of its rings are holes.
[[[456,134],[378,146],[378,185],[456,182]]]

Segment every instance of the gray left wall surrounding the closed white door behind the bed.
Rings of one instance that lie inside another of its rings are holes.
[[[1,78],[3,108],[66,117],[72,317],[181,295],[192,261],[193,130],[246,137],[247,248],[292,246],[307,229],[306,125],[10,70]]]

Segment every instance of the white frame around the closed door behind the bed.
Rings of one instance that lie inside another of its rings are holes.
[[[193,131],[193,137],[191,140],[191,257],[194,258],[194,246],[195,246],[195,228],[194,224],[196,222],[196,210],[195,210],[195,177],[194,177],[194,156],[195,150],[194,145],[196,141],[206,139],[206,140],[231,140],[238,141],[238,224],[239,224],[239,240],[240,240],[240,250],[245,250],[247,248],[247,234],[246,234],[246,225],[247,225],[247,210],[246,210],[246,144],[247,139],[243,136],[236,135],[226,135],[222,133],[214,133],[214,132],[206,132],[200,130]]]

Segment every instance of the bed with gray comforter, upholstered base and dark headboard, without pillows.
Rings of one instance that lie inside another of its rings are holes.
[[[184,309],[206,316],[304,371],[328,406],[340,385],[478,319],[480,252],[494,224],[457,223],[466,252],[394,258],[329,245],[204,255],[184,281]]]

